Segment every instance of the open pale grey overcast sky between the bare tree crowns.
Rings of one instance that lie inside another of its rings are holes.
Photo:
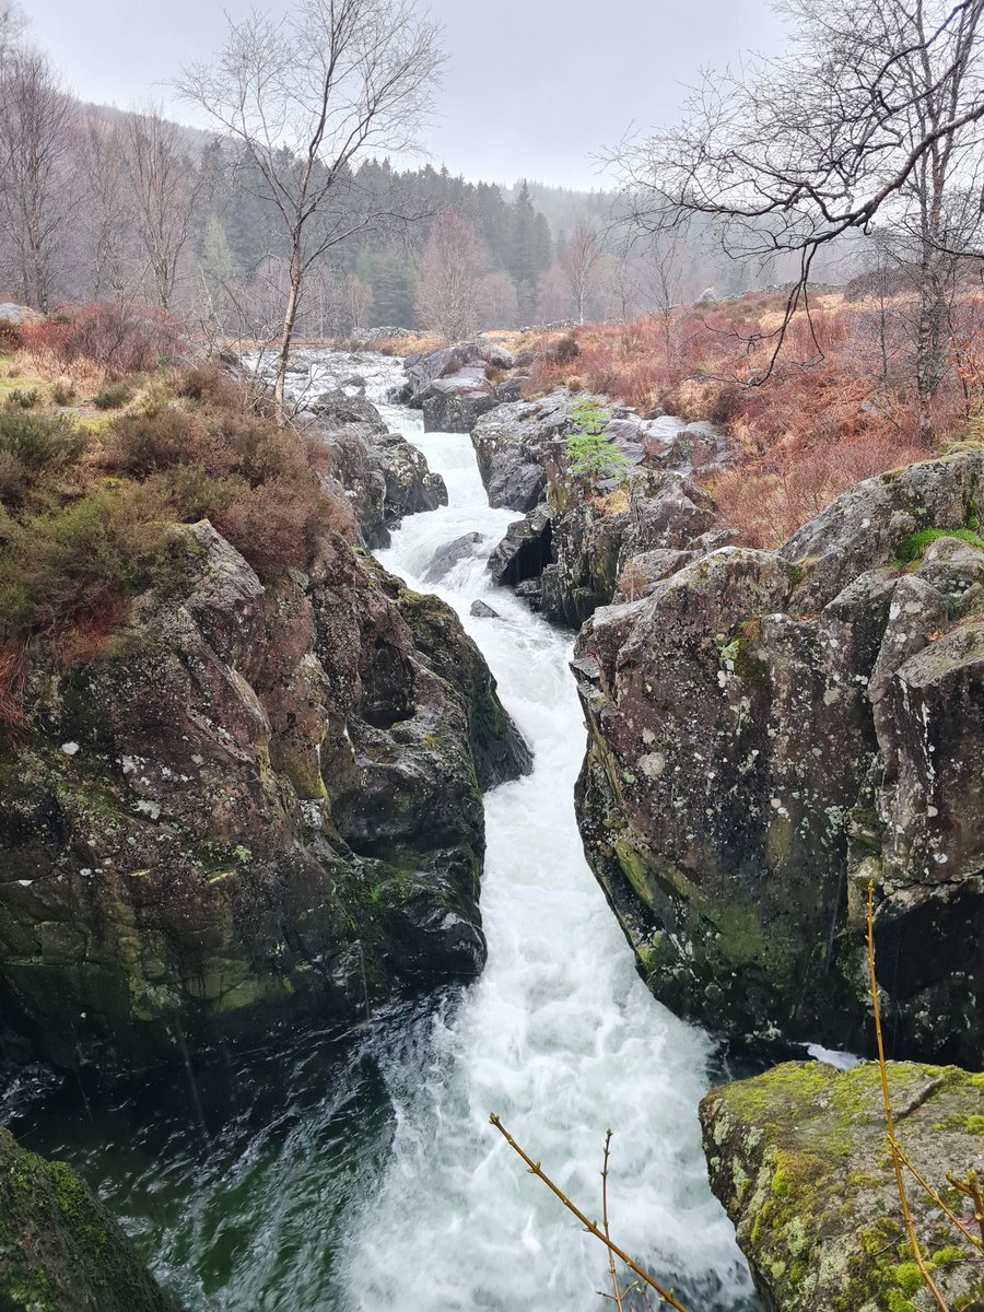
[[[287,0],[261,4],[270,12]],[[84,100],[171,100],[249,0],[24,0],[35,39]],[[432,0],[449,63],[429,134],[436,163],[470,178],[598,186],[592,156],[631,122],[672,119],[706,66],[778,49],[769,0]],[[186,106],[176,118],[193,121]],[[205,125],[202,125],[205,126]]]

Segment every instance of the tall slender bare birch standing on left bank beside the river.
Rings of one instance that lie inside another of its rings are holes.
[[[231,22],[216,62],[186,67],[178,83],[240,143],[278,215],[290,262],[281,413],[304,274],[383,218],[384,199],[354,193],[352,165],[370,148],[417,148],[442,63],[437,38],[411,0],[298,0],[283,20]]]

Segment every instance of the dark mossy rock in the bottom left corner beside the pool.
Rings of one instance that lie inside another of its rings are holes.
[[[96,1195],[0,1127],[0,1307],[178,1312]]]

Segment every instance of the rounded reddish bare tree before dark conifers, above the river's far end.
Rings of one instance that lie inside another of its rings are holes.
[[[430,226],[417,281],[417,316],[449,341],[475,331],[479,249],[475,228],[461,214],[438,214]]]

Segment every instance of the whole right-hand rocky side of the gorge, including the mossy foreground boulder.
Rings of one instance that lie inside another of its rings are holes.
[[[796,1040],[870,1052],[872,886],[892,1051],[979,1071],[979,449],[862,482],[778,550],[748,551],[693,471],[698,442],[702,464],[727,459],[722,434],[613,408],[626,472],[585,488],[565,459],[575,400],[489,407],[472,443],[491,502],[523,514],[493,576],[583,626],[579,823],[640,974],[756,1060]],[[984,1166],[980,1076],[897,1064],[890,1084],[903,1117],[942,1099],[907,1131],[959,1210],[949,1172]],[[895,1221],[876,1252],[865,1237],[897,1208],[876,1085],[870,1065],[781,1067],[705,1103],[711,1182],[770,1309],[908,1307],[924,1290]],[[977,1266],[921,1207],[930,1270],[976,1307]],[[823,1257],[796,1239],[817,1229]]]

